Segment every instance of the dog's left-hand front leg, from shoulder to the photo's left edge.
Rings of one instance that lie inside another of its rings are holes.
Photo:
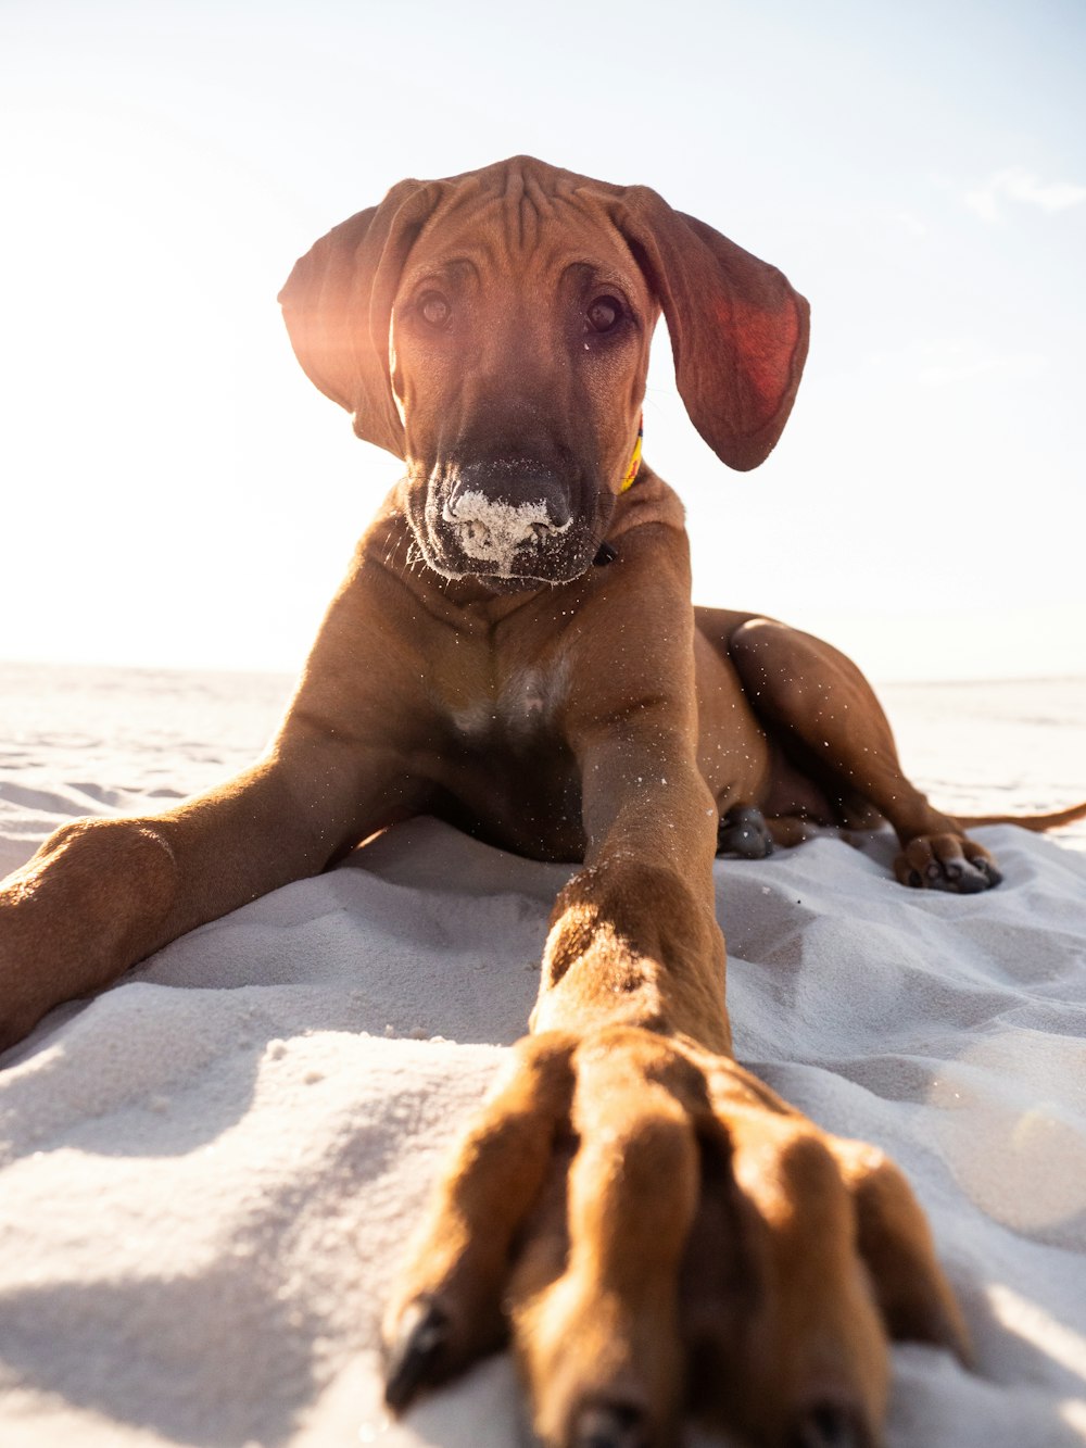
[[[385,531],[379,518],[363,540],[256,765],[162,814],[74,820],[0,880],[0,1050],[54,1005],[424,807],[418,610],[384,568]]]

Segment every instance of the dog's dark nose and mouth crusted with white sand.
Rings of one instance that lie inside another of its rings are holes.
[[[595,520],[537,463],[498,460],[432,472],[408,488],[408,520],[427,565],[443,578],[518,592],[579,578],[598,549]]]

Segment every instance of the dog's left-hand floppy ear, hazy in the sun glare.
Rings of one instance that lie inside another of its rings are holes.
[[[369,443],[404,455],[392,398],[388,327],[407,253],[443,194],[433,181],[401,181],[381,206],[321,236],[279,292],[291,346],[306,375],[355,416]]]

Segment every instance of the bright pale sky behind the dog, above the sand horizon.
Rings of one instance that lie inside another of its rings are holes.
[[[644,182],[812,303],[757,472],[657,340],[695,597],[876,679],[1086,672],[1080,0],[3,0],[0,657],[294,669],[398,475],[294,258],[404,175]]]

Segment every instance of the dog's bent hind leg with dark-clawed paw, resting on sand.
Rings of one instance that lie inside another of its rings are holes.
[[[988,850],[902,773],[886,715],[850,659],[767,618],[740,624],[727,647],[759,715],[809,762],[831,804],[846,809],[859,796],[893,825],[902,885],[967,895],[999,883]]]

